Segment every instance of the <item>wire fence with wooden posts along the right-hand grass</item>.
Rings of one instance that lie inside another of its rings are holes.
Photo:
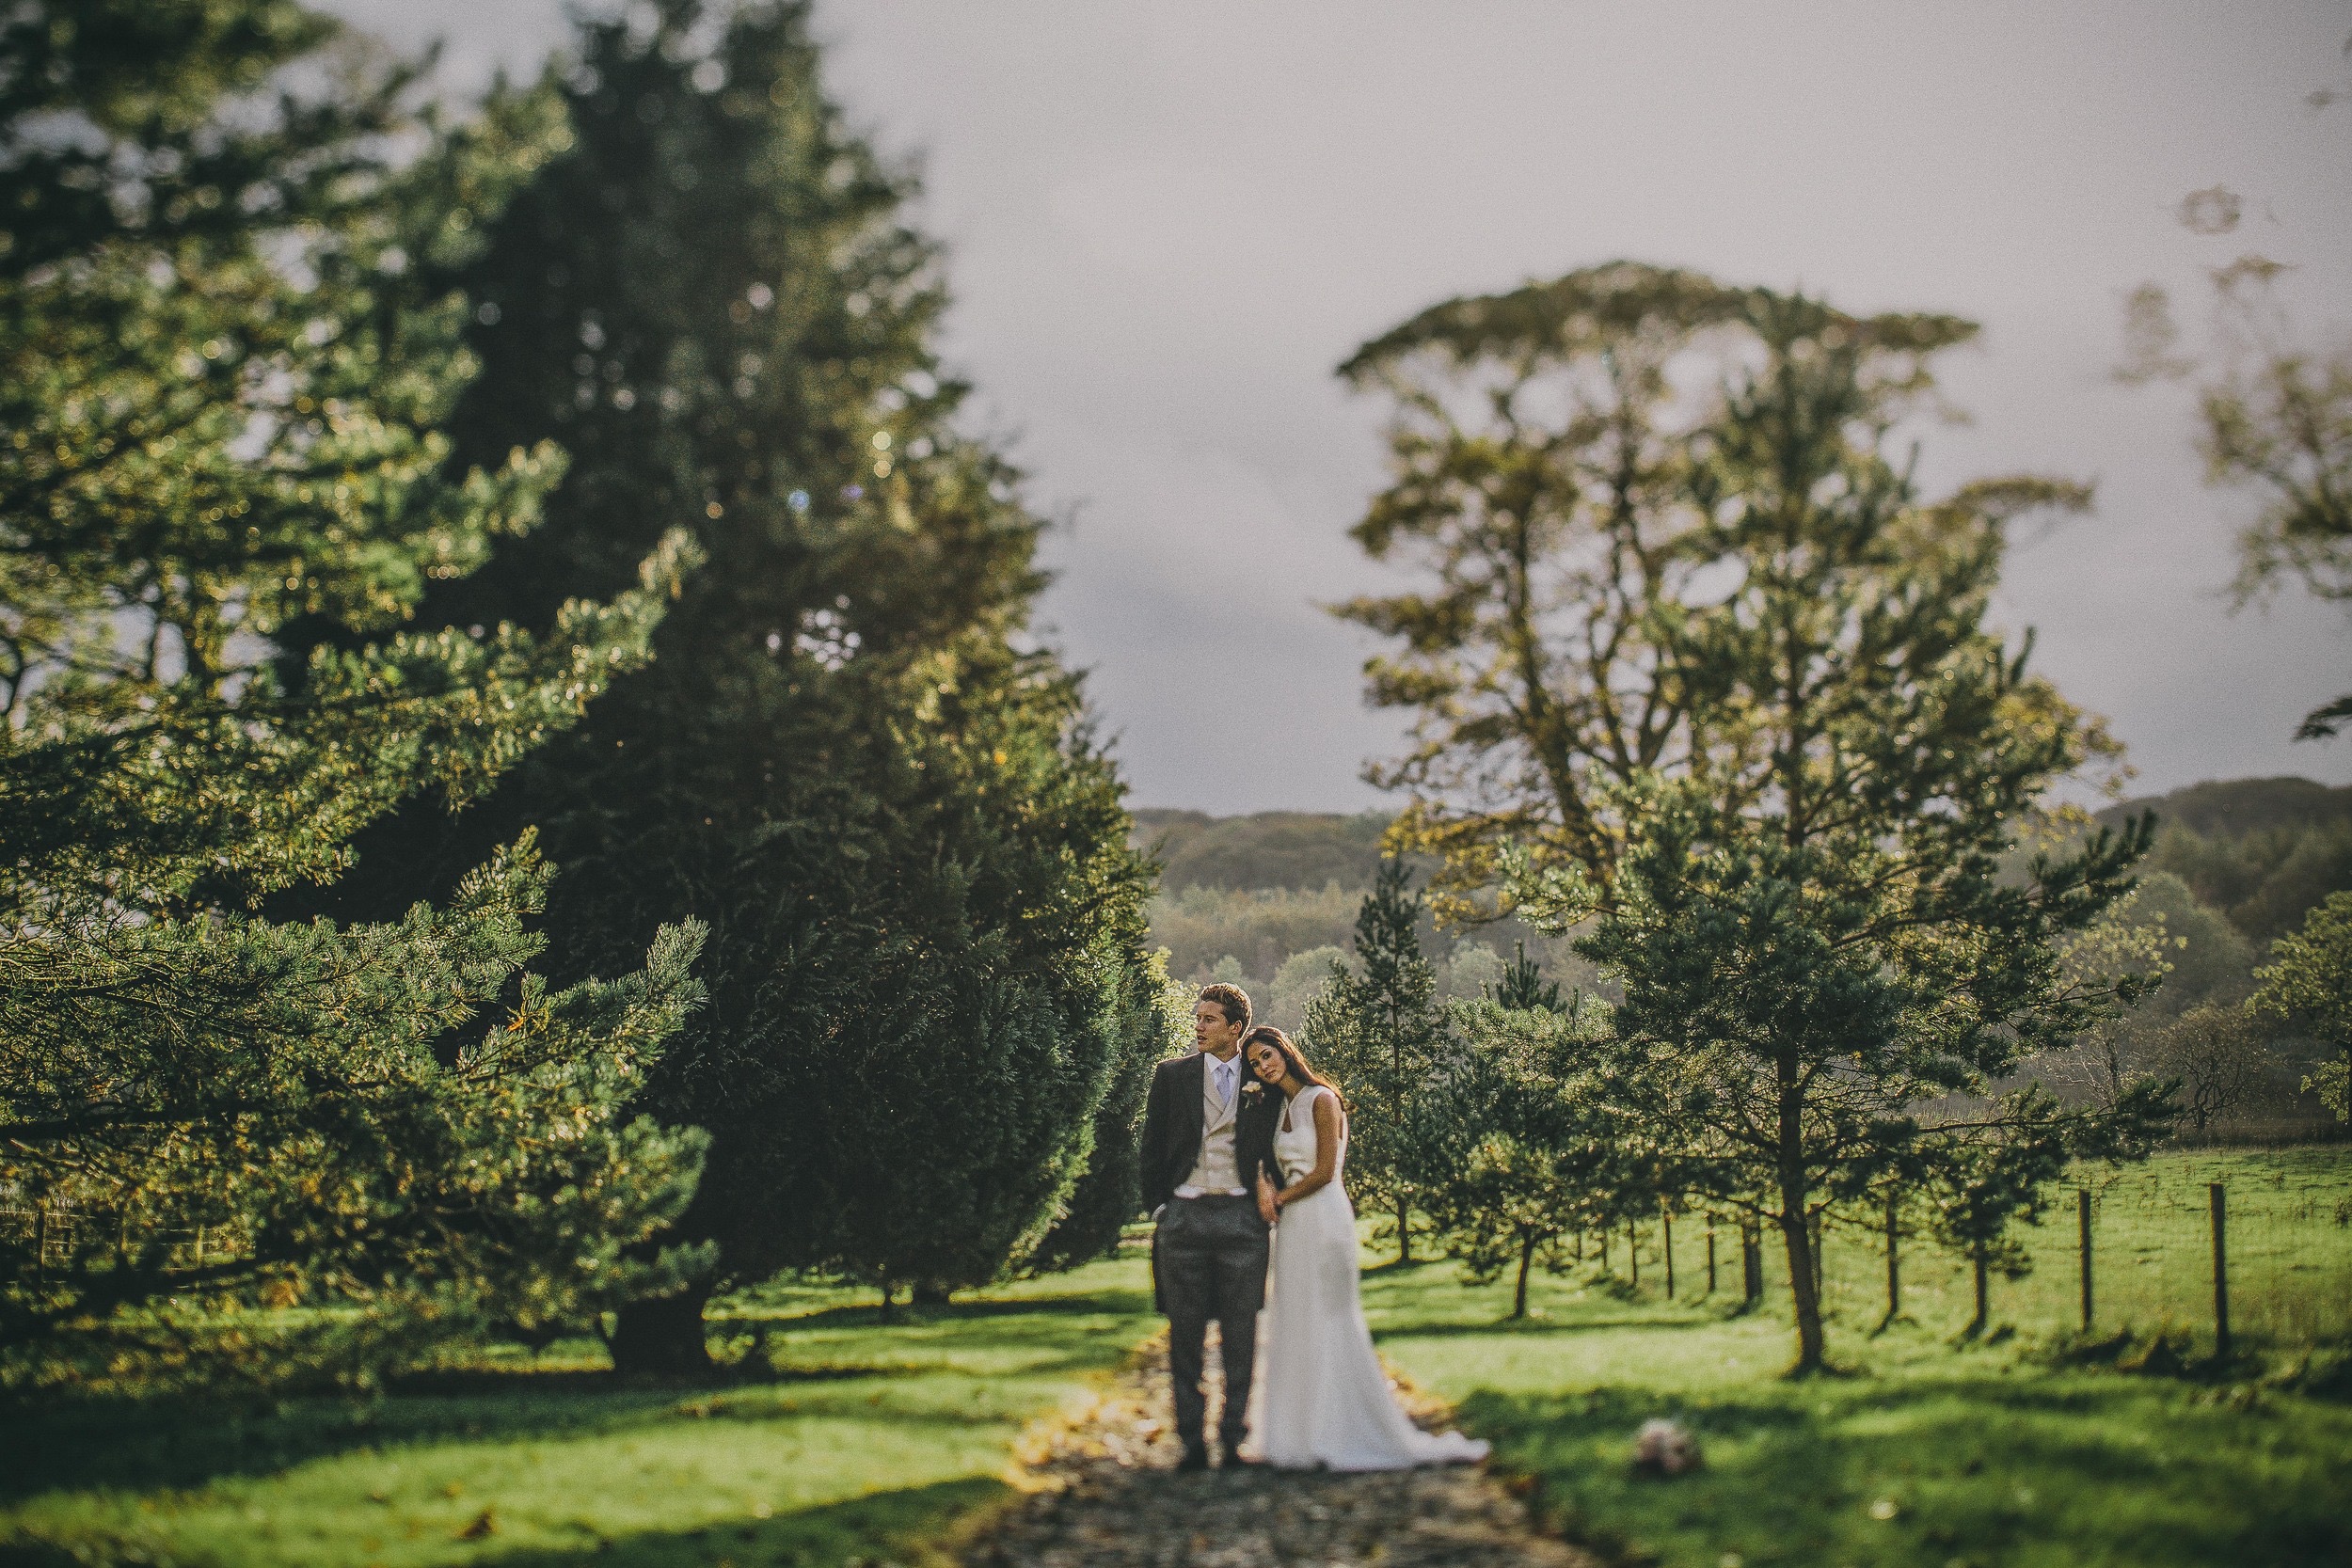
[[[2352,1340],[2352,1147],[2178,1150],[2140,1166],[2082,1166],[2051,1199],[2039,1222],[2016,1229],[2025,1272],[1990,1276],[1992,1333],[2166,1335],[2197,1352]],[[1884,1208],[1825,1211],[1818,1234],[1832,1324],[1875,1328],[1889,1316],[1889,1286],[1915,1324],[1957,1333],[1973,1319],[1971,1262],[1924,1237],[1915,1213],[1896,1211],[1893,1279]],[[1625,1241],[1621,1232],[1611,1272],[1644,1295],[1663,1295],[1672,1279],[1679,1300],[1738,1300],[1755,1276],[1766,1309],[1788,1307],[1778,1234],[1748,1239],[1731,1218],[1684,1213],[1670,1227],[1635,1227],[1632,1260]]]

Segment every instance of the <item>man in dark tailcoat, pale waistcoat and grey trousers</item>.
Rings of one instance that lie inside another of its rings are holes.
[[[1169,1319],[1169,1373],[1176,1382],[1178,1469],[1207,1469],[1202,1345],[1218,1324],[1225,1359],[1225,1465],[1240,1465],[1249,1375],[1265,1305],[1265,1220],[1258,1171],[1275,1166],[1279,1095],[1242,1060],[1249,994],[1204,985],[1192,1006],[1192,1056],[1160,1063],[1143,1107],[1143,1201],[1152,1232],[1152,1305]]]

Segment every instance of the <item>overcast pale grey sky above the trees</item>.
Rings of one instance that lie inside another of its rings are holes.
[[[456,82],[564,42],[560,0],[332,0]],[[2352,5],[1947,7],[1449,0],[830,0],[828,75],[920,155],[950,247],[948,357],[1016,437],[1049,545],[1044,623],[1138,804],[1357,809],[1397,722],[1362,632],[1315,609],[1383,578],[1345,538],[1381,482],[1378,404],[1331,376],[1437,299],[1632,256],[1804,284],[1849,310],[1985,324],[1947,364],[1973,421],[1933,489],[2098,482],[2016,550],[1999,614],[2105,712],[2154,792],[2352,780],[2293,722],[2352,689],[2300,592],[2230,616],[2246,496],[2209,491],[2180,388],[2122,388],[2143,280],[2291,263],[2298,329],[2352,336]],[[2225,183],[2237,233],[2176,209]],[[2185,313],[2194,324],[2197,313]]]

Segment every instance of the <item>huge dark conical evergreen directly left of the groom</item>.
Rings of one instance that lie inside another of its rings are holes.
[[[426,614],[539,625],[663,520],[710,567],[654,668],[485,806],[388,825],[346,893],[400,907],[539,823],[572,964],[710,924],[710,1009],[647,1103],[715,1138],[680,1234],[724,1262],[626,1314],[623,1361],[696,1361],[706,1293],[779,1267],[974,1284],[1065,1208],[1049,1255],[1108,1246],[1124,1152],[1073,1185],[1162,1048],[1145,872],[1025,642],[1040,522],[955,425],[910,186],[823,96],[802,5],[588,21],[548,92],[576,143],[454,273],[482,301],[461,456],[553,433],[576,461]]]

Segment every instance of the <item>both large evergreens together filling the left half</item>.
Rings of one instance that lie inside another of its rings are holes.
[[[0,1378],[694,1366],[1115,1244],[1148,863],[818,66],[0,16]]]

